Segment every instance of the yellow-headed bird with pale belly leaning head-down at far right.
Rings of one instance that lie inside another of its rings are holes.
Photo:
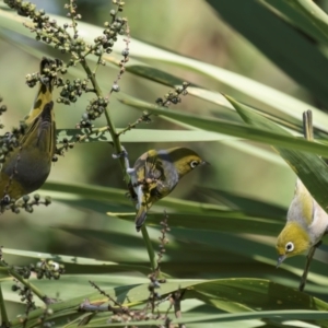
[[[312,112],[303,114],[304,134],[313,140]],[[296,180],[294,198],[288,211],[288,221],[278,236],[278,265],[289,257],[306,254],[307,262],[301,280],[300,290],[304,289],[311,260],[316,247],[327,233],[328,214],[316,202],[300,178]]]

